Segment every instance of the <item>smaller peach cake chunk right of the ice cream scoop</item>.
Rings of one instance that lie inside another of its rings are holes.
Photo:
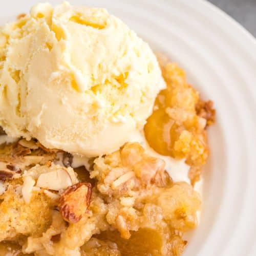
[[[213,103],[200,99],[175,63],[164,56],[159,56],[159,63],[167,87],[156,98],[144,127],[145,137],[159,154],[185,159],[191,166],[189,178],[195,184],[209,154],[205,129],[215,121]]]

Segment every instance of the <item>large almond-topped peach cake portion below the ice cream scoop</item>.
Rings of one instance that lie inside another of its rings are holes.
[[[163,160],[139,143],[95,158],[90,170],[72,168],[60,154],[34,140],[2,146],[0,240],[8,247],[15,242],[35,255],[183,252],[182,234],[197,225],[200,196],[174,182]]]

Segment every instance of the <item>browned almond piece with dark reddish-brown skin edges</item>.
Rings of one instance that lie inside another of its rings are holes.
[[[91,183],[77,183],[68,187],[60,197],[59,210],[64,220],[76,223],[86,212],[92,196]]]

